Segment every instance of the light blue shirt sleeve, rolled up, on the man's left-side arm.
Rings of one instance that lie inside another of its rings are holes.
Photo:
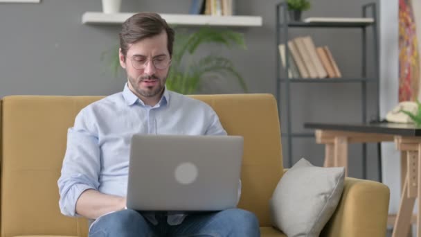
[[[60,210],[66,216],[77,216],[76,202],[87,189],[98,190],[100,148],[98,133],[91,125],[92,116],[82,109],[75,125],[67,132],[67,148],[62,173],[57,184]]]

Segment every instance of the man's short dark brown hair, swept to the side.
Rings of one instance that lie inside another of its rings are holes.
[[[129,17],[118,34],[120,37],[121,53],[126,56],[129,44],[134,44],[148,37],[159,35],[165,30],[167,33],[167,48],[172,56],[174,43],[174,30],[168,26],[167,21],[155,12],[140,12]]]

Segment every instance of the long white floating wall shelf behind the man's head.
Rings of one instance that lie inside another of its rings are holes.
[[[136,13],[121,12],[105,14],[102,12],[84,12],[82,24],[122,24],[127,18]],[[182,26],[262,26],[260,16],[209,16],[209,15],[177,15],[160,14],[168,24]]]

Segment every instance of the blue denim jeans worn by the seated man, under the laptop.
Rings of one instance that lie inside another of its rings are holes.
[[[156,215],[158,225],[152,225],[134,210],[117,211],[102,216],[89,231],[89,237],[155,237],[155,236],[260,236],[259,222],[250,211],[224,211],[189,214],[180,225],[168,225],[167,217]]]

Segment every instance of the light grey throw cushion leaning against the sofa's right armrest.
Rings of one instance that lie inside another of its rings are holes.
[[[287,236],[319,236],[337,207],[345,168],[301,159],[280,179],[270,200],[273,224]]]

